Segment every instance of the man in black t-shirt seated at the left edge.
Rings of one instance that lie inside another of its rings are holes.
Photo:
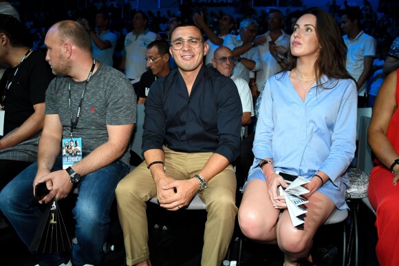
[[[10,66],[0,80],[0,190],[36,162],[45,91],[54,78],[45,54],[30,49],[27,36],[23,23],[0,14],[0,63]]]

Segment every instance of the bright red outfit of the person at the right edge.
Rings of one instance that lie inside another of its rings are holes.
[[[399,71],[396,80],[396,104],[399,103]],[[399,153],[399,111],[393,113],[387,137]],[[381,266],[399,265],[399,182],[393,186],[393,173],[376,160],[370,173],[369,200],[376,210],[378,243],[376,254]]]

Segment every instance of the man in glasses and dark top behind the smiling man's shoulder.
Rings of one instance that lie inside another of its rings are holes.
[[[171,71],[169,67],[169,43],[164,40],[155,40],[147,45],[147,65],[149,70],[141,75],[140,81],[133,84],[138,98],[138,104],[144,104],[149,88],[157,78],[166,76]]]

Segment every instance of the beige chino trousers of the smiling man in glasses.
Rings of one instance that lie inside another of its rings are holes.
[[[191,179],[204,167],[213,153],[180,153],[164,148],[166,174],[174,179]],[[218,266],[226,256],[235,225],[237,180],[229,165],[199,192],[206,205],[207,219],[202,248],[203,266]],[[122,226],[127,265],[149,259],[147,204],[156,196],[155,182],[143,162],[116,187],[118,216]]]

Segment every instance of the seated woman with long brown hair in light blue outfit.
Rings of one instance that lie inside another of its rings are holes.
[[[346,46],[336,22],[311,8],[290,38],[288,71],[271,76],[263,91],[252,164],[239,208],[248,238],[278,244],[285,266],[310,256],[316,230],[335,208],[347,208],[346,174],[356,150],[356,83],[345,69]],[[304,229],[295,228],[276,171],[310,182]],[[281,216],[280,216],[280,212]]]

